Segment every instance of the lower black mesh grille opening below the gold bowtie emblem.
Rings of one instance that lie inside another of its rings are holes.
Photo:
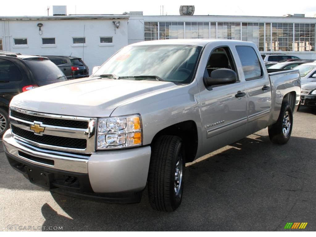
[[[87,147],[87,140],[80,138],[71,138],[71,137],[58,137],[52,135],[39,136],[35,135],[31,131],[27,131],[14,125],[11,125],[12,132],[22,138],[28,139],[36,143],[42,143],[46,145],[66,147],[66,148],[75,148],[75,149],[85,149]]]

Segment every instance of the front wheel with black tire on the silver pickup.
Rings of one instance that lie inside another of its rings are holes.
[[[148,173],[148,196],[154,210],[171,212],[179,207],[184,168],[185,155],[181,138],[164,135],[156,139],[152,145]]]

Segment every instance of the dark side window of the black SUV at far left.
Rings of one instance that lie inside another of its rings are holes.
[[[0,83],[22,80],[19,68],[9,60],[0,59]]]

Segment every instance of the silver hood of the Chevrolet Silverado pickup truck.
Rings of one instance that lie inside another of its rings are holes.
[[[43,113],[108,117],[129,100],[174,87],[172,82],[88,77],[23,92],[11,100],[10,106]]]

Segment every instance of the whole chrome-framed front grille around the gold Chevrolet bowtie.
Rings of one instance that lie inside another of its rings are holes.
[[[34,124],[44,128],[44,131],[35,133],[31,127]],[[96,124],[97,118],[38,113],[10,107],[10,125],[15,138],[39,148],[91,154],[95,150]]]

